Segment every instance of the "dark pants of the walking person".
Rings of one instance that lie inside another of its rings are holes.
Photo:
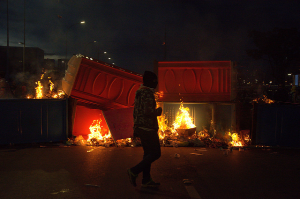
[[[136,166],[131,168],[133,174],[139,174],[142,172],[142,184],[150,181],[150,169],[151,163],[160,157],[160,144],[157,131],[145,131],[140,128],[136,128],[134,133],[140,139],[144,155],[142,161]]]

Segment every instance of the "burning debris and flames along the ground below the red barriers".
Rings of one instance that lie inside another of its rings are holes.
[[[183,104],[180,104],[179,111],[177,112],[172,128],[167,126],[167,119],[165,115],[157,117],[158,120],[158,135],[160,145],[164,147],[183,147],[183,146],[209,146],[209,147],[221,147],[221,146],[234,146],[242,147],[249,145],[251,140],[248,133],[238,135],[230,131],[225,132],[224,135],[217,133],[214,124],[210,121],[209,129],[203,128],[202,131],[196,133],[196,126],[193,124],[193,119],[189,115],[188,107],[184,108]],[[89,127],[90,134],[87,141],[83,141],[85,145],[95,146],[114,146],[114,141],[110,132],[107,129],[103,129],[101,126],[101,120],[95,120]],[[186,133],[187,132],[187,133]],[[77,138],[77,139],[83,139]],[[75,142],[76,143],[76,142]],[[82,142],[80,142],[81,144]],[[122,140],[116,140],[118,146],[140,146],[138,138],[128,138]]]

